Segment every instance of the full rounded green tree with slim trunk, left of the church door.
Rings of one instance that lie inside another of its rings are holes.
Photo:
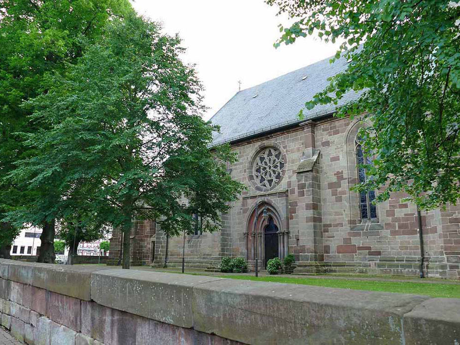
[[[29,188],[53,186],[65,218],[87,208],[124,233],[129,268],[132,220],[157,219],[174,235],[193,231],[198,213],[216,230],[242,185],[232,181],[229,146],[213,149],[218,128],[202,120],[202,86],[179,59],[180,39],[135,15],[114,18],[78,64],[30,101],[41,129],[25,133],[36,154],[18,162]],[[58,183],[57,183],[58,182]]]

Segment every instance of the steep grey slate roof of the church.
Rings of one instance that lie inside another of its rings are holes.
[[[337,107],[357,99],[359,93],[350,91],[338,105],[318,105],[312,110],[305,108],[315,94],[329,84],[328,78],[346,69],[341,58],[331,64],[331,58],[285,74],[233,96],[212,118],[221,126],[221,133],[214,133],[213,146],[243,139],[268,130],[295,124],[321,115],[333,113]],[[305,78],[306,77],[306,78]],[[303,109],[305,119],[299,119]]]

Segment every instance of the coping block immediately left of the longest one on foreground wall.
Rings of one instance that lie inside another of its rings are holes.
[[[93,273],[91,296],[104,306],[191,328],[192,289],[219,280],[221,278],[114,269]]]

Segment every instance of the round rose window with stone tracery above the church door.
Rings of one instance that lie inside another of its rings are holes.
[[[275,147],[268,147],[260,152],[254,163],[255,182],[265,188],[276,186],[284,170],[283,155]]]

